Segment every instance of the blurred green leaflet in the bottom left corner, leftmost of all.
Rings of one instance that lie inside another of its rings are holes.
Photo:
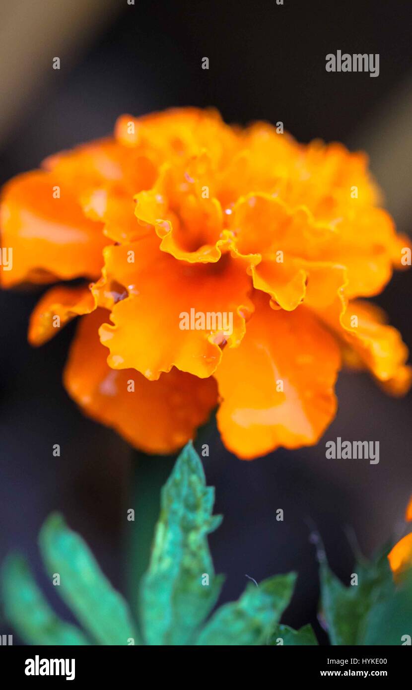
[[[6,618],[27,644],[89,644],[81,630],[51,609],[20,555],[9,555],[3,563],[1,591]]]

